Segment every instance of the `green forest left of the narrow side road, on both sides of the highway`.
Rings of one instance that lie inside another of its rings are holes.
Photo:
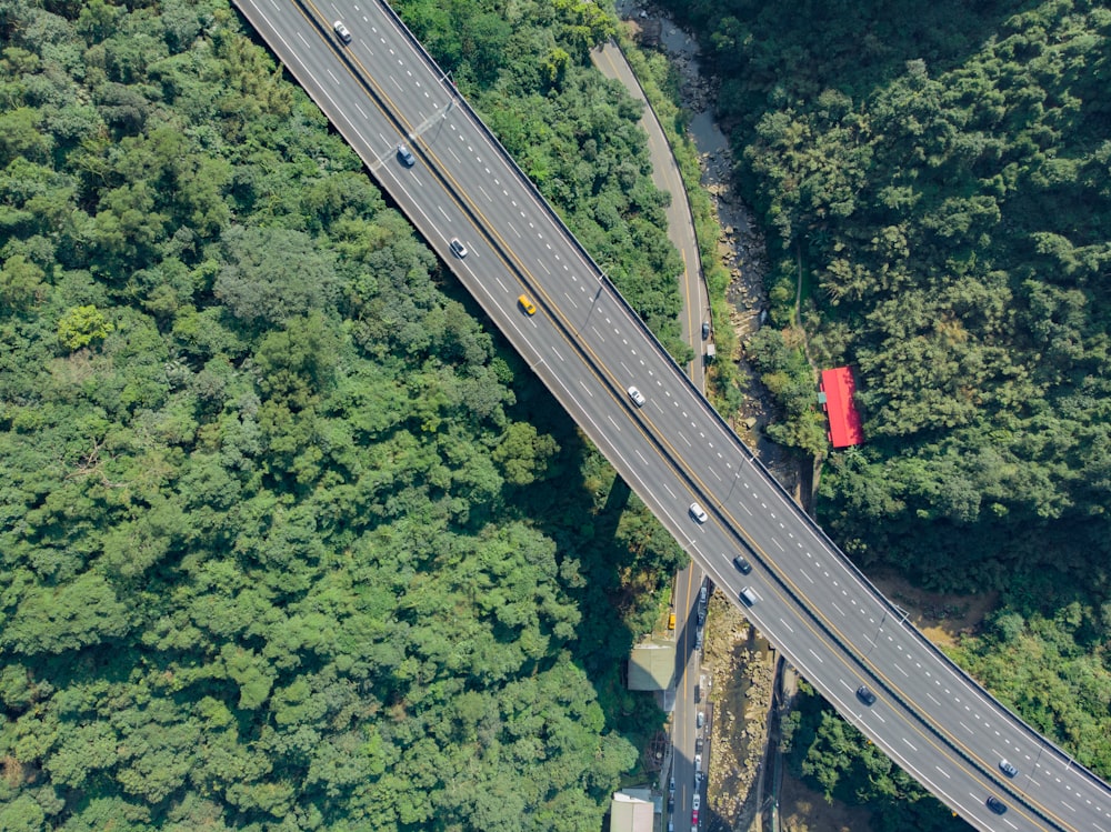
[[[604,21],[509,6],[422,26],[667,335]],[[678,548],[224,2],[0,43],[0,828],[598,829]]]

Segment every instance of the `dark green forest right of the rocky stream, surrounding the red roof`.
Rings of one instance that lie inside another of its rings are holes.
[[[664,2],[770,232],[774,438],[825,454],[813,365],[858,374],[868,442],[828,459],[820,519],[865,565],[1002,590],[958,658],[1111,775],[1111,10]],[[810,773],[885,801],[831,731]]]

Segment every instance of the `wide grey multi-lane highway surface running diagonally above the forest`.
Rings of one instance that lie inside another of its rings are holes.
[[[625,482],[719,589],[734,600],[750,590],[745,614],[849,722],[979,829],[1111,832],[1107,783],[949,662],[840,554],[388,6],[237,6]],[[398,158],[399,142],[411,147],[412,167]],[[466,257],[452,253],[452,239]],[[753,563],[749,575],[732,567],[739,552]],[[861,685],[874,692],[871,704],[857,696]]]

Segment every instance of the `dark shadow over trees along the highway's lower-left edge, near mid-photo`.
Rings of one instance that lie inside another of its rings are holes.
[[[571,652],[593,684],[605,730],[638,750],[647,749],[663,730],[667,714],[652,694],[628,690],[625,668],[639,632],[660,623],[660,593],[667,592],[685,555],[470,293],[451,279],[440,281],[439,288],[493,335],[498,358],[513,378],[516,402],[506,408],[509,418],[532,424],[559,445],[547,468],[537,472],[536,482],[504,487],[503,507],[507,515],[519,517],[554,541],[560,587],[581,615],[573,638],[561,642],[560,649]],[[490,519],[474,515],[471,523],[481,525]],[[654,782],[648,768],[630,774],[627,782]]]

